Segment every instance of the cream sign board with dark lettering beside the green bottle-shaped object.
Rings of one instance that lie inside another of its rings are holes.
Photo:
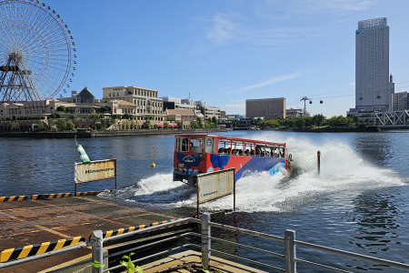
[[[75,183],[85,183],[116,177],[116,159],[75,163]]]

